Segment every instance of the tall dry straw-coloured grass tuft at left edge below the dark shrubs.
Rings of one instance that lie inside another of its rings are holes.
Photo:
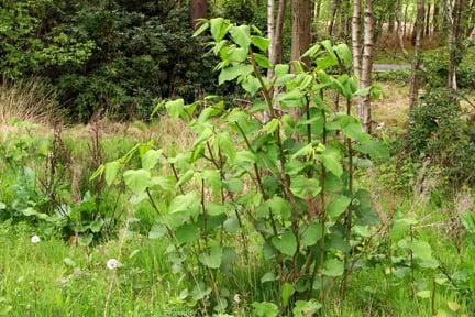
[[[13,120],[51,125],[55,118],[55,96],[40,81],[20,81],[0,85],[0,127]]]

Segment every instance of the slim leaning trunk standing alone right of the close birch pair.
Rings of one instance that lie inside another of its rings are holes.
[[[412,67],[411,67],[411,80],[409,88],[409,109],[412,109],[416,106],[417,99],[419,97],[419,76],[418,72],[420,70],[420,50],[421,50],[421,40],[422,32],[424,29],[424,0],[417,1],[417,21],[416,21],[416,45],[415,53],[412,57]]]

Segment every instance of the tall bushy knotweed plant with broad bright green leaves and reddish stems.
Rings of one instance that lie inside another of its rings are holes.
[[[154,142],[139,144],[95,176],[103,173],[112,185],[122,171],[132,204],[156,210],[150,236],[168,240],[173,270],[188,281],[181,299],[195,300],[203,314],[232,311],[232,287],[243,289],[235,274],[261,267],[257,280],[270,285],[273,297],[255,292],[251,299],[303,316],[305,307],[319,306],[299,299],[324,299],[334,285],[345,292],[357,240],[378,222],[369,193],[353,182],[357,168],[388,155],[351,113],[353,99],[371,89],[358,90],[349,75],[344,44],[324,41],[302,56],[306,64],[274,66],[257,29],[213,19],[197,34],[208,29],[221,58],[219,83],[240,85],[245,101],[167,101],[168,114],[196,132],[191,149],[165,153]],[[346,101],[344,112],[325,99],[334,94]],[[134,155],[142,168],[126,170]]]

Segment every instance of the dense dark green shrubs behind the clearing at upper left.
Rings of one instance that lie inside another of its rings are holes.
[[[2,79],[40,77],[73,118],[143,118],[157,98],[216,87],[188,10],[174,1],[3,2]]]

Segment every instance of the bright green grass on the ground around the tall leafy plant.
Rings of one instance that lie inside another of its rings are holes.
[[[187,138],[175,138],[172,142],[169,136],[166,136],[179,135],[177,131],[180,128],[169,124],[168,121],[166,123],[167,127],[159,127],[152,132],[141,127],[146,131],[143,138],[155,139],[165,146],[186,149],[189,142]],[[92,170],[89,162],[90,142],[85,135],[89,134],[80,129],[65,131],[65,144],[75,157],[74,162],[81,164],[88,175],[84,185],[87,187],[91,186],[87,179]],[[106,135],[101,142],[107,154],[104,160],[121,156],[140,139],[123,133]],[[30,163],[33,164],[31,161]],[[35,164],[40,165],[42,164]],[[0,201],[11,204],[10,200],[14,197],[11,188],[16,182],[15,173],[12,168],[4,171],[7,173],[0,175]],[[386,177],[400,176],[391,174]],[[449,273],[460,267],[472,267],[472,272],[475,272],[474,237],[467,236],[463,230],[452,232],[459,233],[452,237],[446,234],[446,230],[452,230],[446,225],[431,226],[442,223],[454,215],[449,212],[455,209],[456,205],[451,197],[423,200],[408,192],[396,193],[390,182],[374,171],[360,175],[358,182],[374,194],[375,207],[382,215],[388,216],[397,209],[401,215],[421,221],[415,226],[415,237],[432,247],[433,254]],[[431,196],[435,197],[435,194]],[[126,198],[118,192],[110,193],[108,197],[103,203],[106,206],[115,201],[120,205],[128,204]],[[473,209],[473,206],[471,208]],[[130,215],[129,218],[131,217]],[[165,241],[147,238],[156,217],[151,206],[140,204],[134,210],[130,230],[124,231],[124,225],[121,223],[118,232],[101,237],[90,247],[71,245],[64,234],[45,230],[43,225],[36,222],[26,223],[16,219],[15,222],[7,220],[0,223],[0,316],[103,316],[108,296],[109,316],[195,316],[197,306],[188,307],[188,299],[180,299],[180,293],[185,288],[191,289],[195,282],[179,280],[180,275],[175,274],[167,259],[168,244]],[[121,219],[124,218],[125,215]],[[30,240],[35,233],[42,238],[37,244]],[[126,239],[122,245],[120,237],[123,234]],[[344,300],[338,278],[325,285],[328,297],[317,298],[323,304],[319,316],[431,316],[431,299],[418,297],[416,294],[426,289],[432,292],[433,278],[441,272],[417,267],[413,273],[402,278],[388,274],[386,260],[390,256],[405,256],[407,260],[408,254],[401,250],[388,254],[389,241],[385,237],[366,245],[368,252],[363,251],[362,261],[356,263]],[[251,244],[259,245],[261,238],[257,234],[250,232],[248,238]],[[391,243],[396,244],[397,240],[395,238]],[[270,263],[262,256],[262,250],[253,248],[250,263],[243,263],[244,260],[240,259],[239,265],[232,267],[231,277],[228,281],[218,281],[221,285],[220,292],[231,294],[229,310],[233,311],[233,316],[251,316],[248,311],[252,302],[280,297],[275,285],[262,284],[259,281],[272,269]],[[122,263],[117,275],[114,271],[106,267],[109,259],[119,259]],[[360,264],[364,265],[360,267]],[[470,287],[473,294],[475,278],[471,278],[468,277],[467,283],[472,283]],[[463,314],[471,313],[475,305],[474,299],[452,286],[445,284],[437,288],[435,309],[446,311],[446,316],[464,316]],[[235,295],[242,298],[239,303],[234,300]],[[453,303],[460,308],[452,314],[449,305],[453,306]]]

